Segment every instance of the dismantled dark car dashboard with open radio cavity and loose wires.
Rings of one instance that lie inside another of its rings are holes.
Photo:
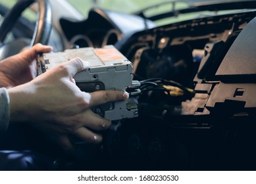
[[[113,44],[133,63],[139,116],[113,122],[100,147],[78,145],[76,167],[95,150],[101,170],[255,169],[255,10],[129,32],[91,21],[95,12],[63,29],[77,26],[66,33],[74,45]]]

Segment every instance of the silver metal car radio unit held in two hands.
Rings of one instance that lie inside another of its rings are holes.
[[[58,53],[43,53],[37,58],[38,75],[75,57],[90,62],[88,70],[74,76],[76,85],[81,91],[91,93],[99,90],[125,91],[128,88],[134,88],[132,62],[113,45],[99,49],[85,47],[66,49],[64,52]],[[101,104],[93,107],[92,110],[108,120],[122,120],[138,116],[138,106],[132,97],[126,101]]]

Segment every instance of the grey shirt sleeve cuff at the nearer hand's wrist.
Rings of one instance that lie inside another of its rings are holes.
[[[10,99],[5,87],[0,88],[0,132],[6,131],[10,121]]]

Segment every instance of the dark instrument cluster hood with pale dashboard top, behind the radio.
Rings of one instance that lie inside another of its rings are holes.
[[[114,45],[123,35],[145,29],[140,16],[93,8],[82,21],[61,18],[60,24],[70,47],[104,47]],[[149,28],[155,24],[147,20]]]

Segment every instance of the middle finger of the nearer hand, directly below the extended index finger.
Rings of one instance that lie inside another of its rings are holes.
[[[91,129],[95,129],[97,131],[102,131],[107,129],[109,126],[111,126],[111,121],[106,120],[99,116],[98,114],[95,114],[91,110],[86,110],[80,117],[79,122],[84,127],[90,127]],[[86,120],[86,122],[84,122]]]

